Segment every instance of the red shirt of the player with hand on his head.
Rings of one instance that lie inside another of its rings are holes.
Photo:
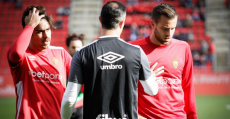
[[[16,119],[60,119],[72,57],[62,47],[35,53],[28,47],[33,27],[26,26],[8,51],[16,92]],[[14,64],[10,52],[22,57]]]

